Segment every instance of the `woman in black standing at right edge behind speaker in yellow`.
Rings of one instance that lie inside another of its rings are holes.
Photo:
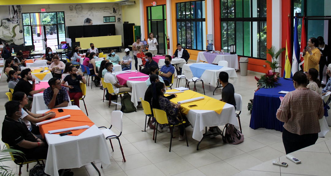
[[[324,43],[324,38],[322,36],[317,37],[318,49],[321,54],[321,59],[319,59],[319,80],[323,80],[323,70],[324,66],[328,66],[331,63],[331,59],[326,60],[326,57],[330,55],[330,48]],[[326,81],[329,79],[329,75],[326,75]]]

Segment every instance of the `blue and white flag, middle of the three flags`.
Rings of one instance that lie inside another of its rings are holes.
[[[298,19],[294,19],[294,37],[293,37],[293,58],[292,58],[292,75],[295,72],[299,71],[300,63],[300,48],[299,48],[299,39],[298,39]]]

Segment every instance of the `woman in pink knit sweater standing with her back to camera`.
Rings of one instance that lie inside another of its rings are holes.
[[[276,118],[284,123],[283,144],[286,154],[315,144],[321,131],[319,119],[324,115],[323,100],[307,86],[307,76],[293,75],[295,90],[288,92],[277,110]]]

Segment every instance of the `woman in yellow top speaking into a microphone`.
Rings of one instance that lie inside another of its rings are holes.
[[[311,37],[307,42],[307,47],[303,50],[304,53],[304,71],[307,72],[310,68],[315,68],[319,70],[319,59],[321,58],[321,53],[318,47],[318,40]]]

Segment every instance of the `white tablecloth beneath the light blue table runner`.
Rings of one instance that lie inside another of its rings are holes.
[[[184,64],[183,66],[183,73],[185,75],[185,73],[187,74],[187,72],[191,72],[192,71],[190,69],[190,65],[192,65],[193,63],[190,64]],[[208,63],[203,63],[203,62],[199,62],[199,63],[194,63],[194,64],[208,64]],[[229,68],[229,67],[223,67],[219,70],[205,70],[205,72],[201,75],[201,79],[204,80],[205,83],[210,83],[213,86],[217,86],[217,78],[219,75],[219,72],[226,72],[229,75],[229,78],[232,79],[234,82],[237,81],[237,73],[236,70],[234,68]]]

